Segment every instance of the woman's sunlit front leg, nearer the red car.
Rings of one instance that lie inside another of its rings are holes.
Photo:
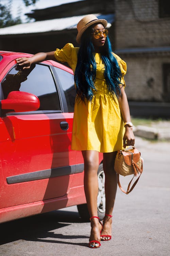
[[[97,196],[99,190],[98,184],[98,167],[99,167],[99,152],[94,150],[82,151],[84,158],[84,191],[86,195],[87,207],[92,216],[98,216],[97,212]],[[100,242],[100,230],[102,226],[97,218],[91,219],[91,233],[89,241],[97,240]],[[98,246],[99,244],[96,244]],[[94,247],[95,243],[91,243]]]

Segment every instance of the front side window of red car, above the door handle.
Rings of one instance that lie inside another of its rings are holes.
[[[25,91],[39,98],[38,110],[61,110],[60,98],[49,66],[34,64],[30,69],[18,69],[17,65],[1,83],[4,99],[11,91]]]

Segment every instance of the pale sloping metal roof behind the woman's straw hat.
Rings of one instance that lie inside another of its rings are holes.
[[[95,14],[99,19],[106,19],[108,21],[107,28],[111,27],[114,22],[114,14]],[[52,31],[61,31],[65,29],[76,29],[77,23],[85,15],[73,16],[59,19],[42,20],[31,23],[22,23],[11,27],[1,28],[0,35],[14,35],[14,34],[33,34],[44,33]]]

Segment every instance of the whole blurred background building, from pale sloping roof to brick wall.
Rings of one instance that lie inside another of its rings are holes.
[[[134,116],[170,117],[170,1],[84,0],[33,10],[36,22],[0,29],[0,48],[28,53],[76,43],[79,20],[108,20],[113,49],[128,65],[126,94]]]

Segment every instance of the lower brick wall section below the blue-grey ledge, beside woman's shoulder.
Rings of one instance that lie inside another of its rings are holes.
[[[170,56],[122,56],[127,63],[126,94],[132,101],[164,101],[163,65]],[[161,59],[161,61],[160,61]]]

